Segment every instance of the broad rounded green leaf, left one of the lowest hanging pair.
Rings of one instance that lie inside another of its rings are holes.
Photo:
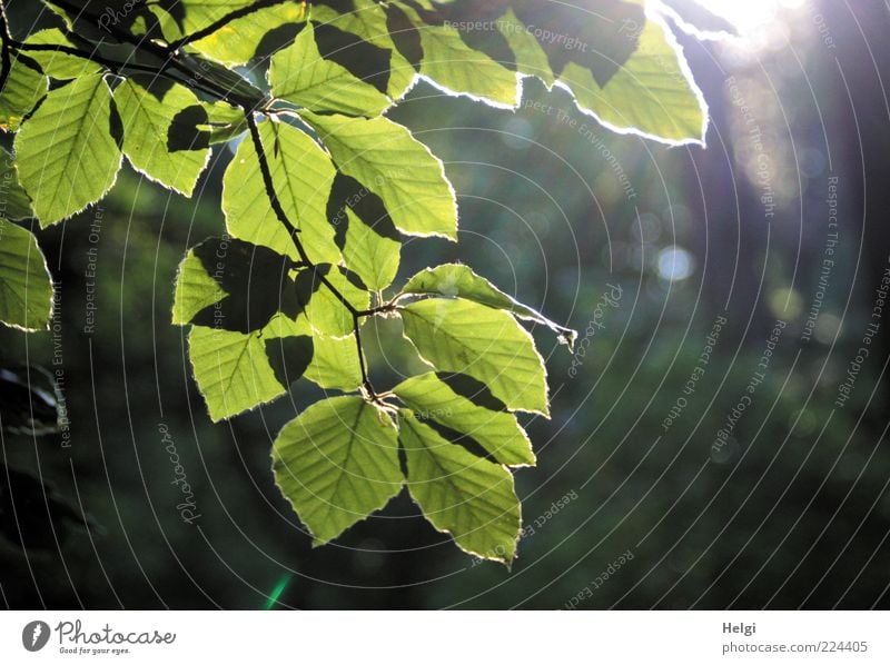
[[[326,399],[285,425],[273,446],[281,494],[324,545],[402,489],[389,416],[359,397]]]

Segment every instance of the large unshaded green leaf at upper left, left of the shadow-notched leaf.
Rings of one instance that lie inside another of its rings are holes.
[[[16,137],[19,179],[42,227],[101,199],[121,155],[111,136],[111,91],[100,75],[58,88]]]

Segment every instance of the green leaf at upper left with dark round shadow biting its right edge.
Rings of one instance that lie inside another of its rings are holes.
[[[200,145],[170,150],[169,139],[177,112],[197,105],[198,98],[177,83],[129,78],[115,90],[115,102],[123,125],[123,152],[134,168],[191,196],[210,150]]]

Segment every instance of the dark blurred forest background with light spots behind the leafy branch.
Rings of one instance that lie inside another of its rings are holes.
[[[11,2],[17,30],[37,4]],[[216,149],[194,200],[127,170],[101,214],[39,235],[60,289],[60,346],[51,332],[0,330],[4,366],[63,370],[70,419],[70,445],[2,435],[2,603],[890,607],[890,320],[834,404],[890,255],[889,30],[882,2],[821,0],[746,46],[683,39],[713,116],[708,149],[612,133],[533,81],[515,113],[424,83],[392,111],[446,162],[461,205],[459,244],[407,244],[403,277],[461,260],[589,336],[573,358],[536,334],[553,419],[530,421],[538,467],[516,474],[527,528],[512,572],[463,555],[404,493],[312,547],[273,484],[269,451],[313,388],[296,383],[289,399],[214,426],[187,331],[169,322],[178,262],[224,228],[231,149]],[[772,200],[740,99],[762,131]],[[825,276],[833,177],[839,238]],[[787,326],[763,383],[713,446],[777,320]],[[399,354],[376,354],[379,385],[398,380]],[[195,492],[192,524],[177,509],[170,438]]]

